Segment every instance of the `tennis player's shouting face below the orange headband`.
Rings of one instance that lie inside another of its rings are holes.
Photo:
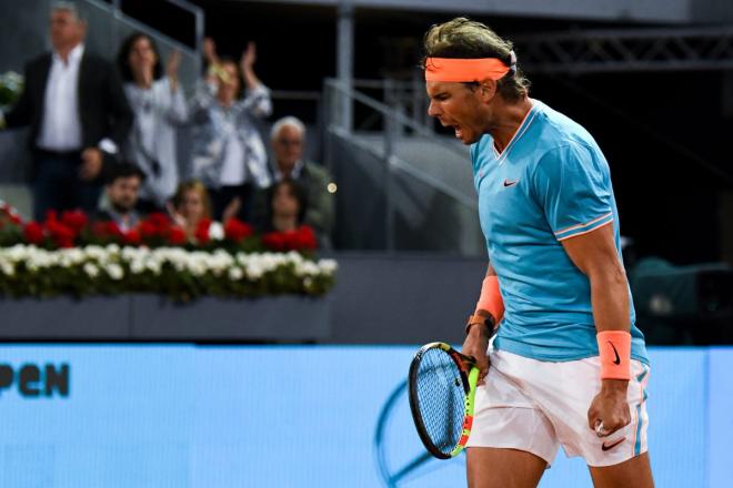
[[[430,108],[428,114],[455,131],[464,144],[473,144],[485,132],[482,102],[478,90],[463,83],[430,81],[426,85]]]

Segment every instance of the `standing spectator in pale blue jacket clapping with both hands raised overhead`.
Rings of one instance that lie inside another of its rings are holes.
[[[219,58],[211,40],[204,52],[210,77],[199,87],[191,106],[192,175],[209,190],[214,217],[221,218],[234,205],[239,218],[249,221],[254,187],[270,183],[267,151],[257,128],[257,119],[272,112],[270,91],[254,74],[254,43],[248,44],[239,67]],[[243,99],[242,77],[247,87]]]

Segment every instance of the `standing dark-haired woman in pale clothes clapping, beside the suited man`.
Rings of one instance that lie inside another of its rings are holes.
[[[178,185],[177,125],[187,118],[178,83],[181,54],[173,51],[163,73],[155,42],[135,32],[124,40],[118,67],[135,119],[125,154],[145,174],[138,201],[144,212],[161,211]]]

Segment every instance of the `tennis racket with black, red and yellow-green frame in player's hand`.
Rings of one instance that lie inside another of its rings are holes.
[[[422,444],[439,459],[458,456],[471,435],[479,368],[445,343],[422,346],[410,364],[410,409]]]

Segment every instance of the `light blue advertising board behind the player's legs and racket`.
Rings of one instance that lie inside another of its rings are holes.
[[[464,486],[464,457],[426,459],[414,433],[404,389],[414,349],[0,346],[16,370],[70,366],[68,397],[0,389],[0,486]],[[733,486],[733,350],[651,356],[657,486]],[[590,477],[561,453],[541,486]]]

